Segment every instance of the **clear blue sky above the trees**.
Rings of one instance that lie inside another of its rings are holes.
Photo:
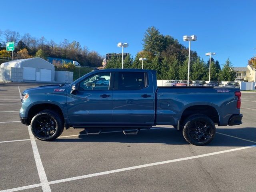
[[[128,42],[125,51],[135,55],[143,48],[145,30],[155,26],[185,46],[183,35],[197,35],[191,49],[204,60],[206,52],[216,52],[214,59],[220,64],[229,57],[234,66],[246,66],[256,55],[255,4],[255,0],[4,0],[0,30],[28,32],[57,43],[76,40],[102,55],[121,52],[117,43]]]

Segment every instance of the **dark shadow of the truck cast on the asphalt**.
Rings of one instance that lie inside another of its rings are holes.
[[[120,131],[120,132],[112,132]],[[104,133],[105,132],[105,133]],[[108,133],[110,132],[110,133]],[[216,132],[227,134],[253,142],[240,140],[216,133],[212,142],[206,146],[249,146],[256,144],[256,128],[217,128]],[[168,145],[187,145],[182,132],[174,128],[140,130],[137,135],[124,135],[121,129],[104,129],[99,135],[86,135],[83,130],[78,138],[58,138],[54,142],[119,142],[119,143],[160,143]]]

